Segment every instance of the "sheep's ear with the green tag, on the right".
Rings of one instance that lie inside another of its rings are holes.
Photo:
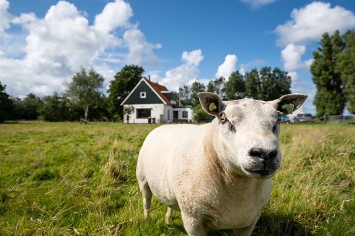
[[[280,114],[288,115],[296,111],[306,101],[307,95],[303,93],[290,93],[286,94],[279,99],[270,101],[271,105],[275,107]]]

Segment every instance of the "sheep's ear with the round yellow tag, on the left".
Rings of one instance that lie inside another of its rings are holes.
[[[225,108],[224,102],[215,93],[200,92],[198,96],[203,109],[211,116],[218,116]]]

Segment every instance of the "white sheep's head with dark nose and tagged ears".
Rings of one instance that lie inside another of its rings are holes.
[[[306,98],[292,93],[269,102],[250,98],[222,101],[214,93],[199,93],[202,107],[218,119],[218,157],[233,171],[255,178],[272,177],[279,169],[280,116],[297,110]]]

